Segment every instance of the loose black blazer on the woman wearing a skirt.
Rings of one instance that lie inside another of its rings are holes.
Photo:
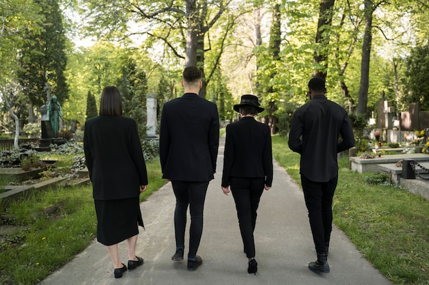
[[[138,197],[140,185],[147,185],[145,159],[132,118],[98,116],[87,120],[84,151],[94,199]]]

